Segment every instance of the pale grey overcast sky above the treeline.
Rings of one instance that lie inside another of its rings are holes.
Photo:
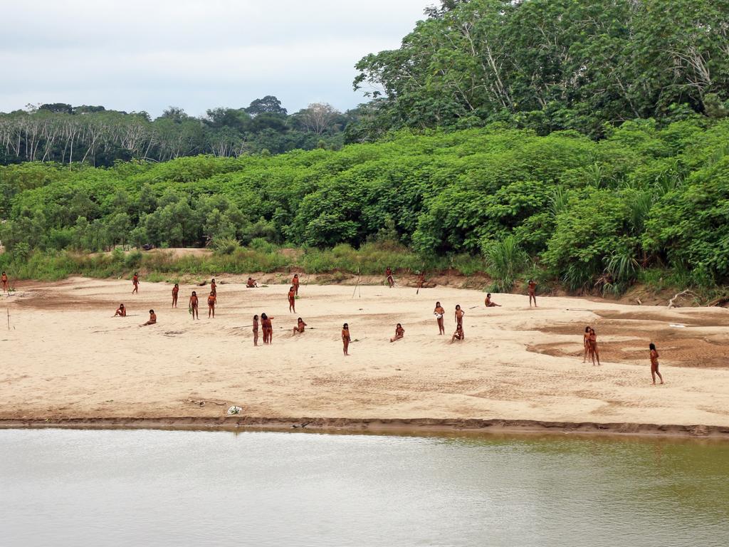
[[[169,105],[200,115],[275,95],[348,109],[354,63],[394,49],[436,0],[0,0],[0,112]]]

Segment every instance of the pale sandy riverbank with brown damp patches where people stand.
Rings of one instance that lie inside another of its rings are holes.
[[[182,286],[171,310],[167,284],[142,282],[139,295],[128,281],[20,284],[0,300],[11,324],[0,333],[0,425],[729,434],[726,309],[558,297],[529,309],[522,295],[493,295],[503,307],[486,309],[475,290],[365,285],[353,298],[351,286],[308,284],[289,314],[287,286],[218,282],[217,317],[201,306],[200,322],[187,298],[205,287]],[[447,310],[448,338],[437,335],[435,300]],[[135,317],[112,319],[120,302]],[[450,345],[456,303],[466,311],[466,340]],[[138,327],[150,308],[158,324]],[[275,317],[273,345],[254,348],[248,325],[262,311]],[[297,317],[310,328],[295,336]],[[397,322],[405,339],[390,344]],[[601,367],[582,363],[585,325],[597,330]],[[663,386],[651,384],[650,341]],[[241,416],[225,416],[231,405]]]

